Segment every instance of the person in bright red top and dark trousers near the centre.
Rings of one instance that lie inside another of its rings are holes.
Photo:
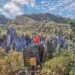
[[[43,63],[43,56],[44,56],[44,44],[42,42],[42,36],[36,35],[33,38],[34,42],[34,48],[37,50],[37,56],[38,56],[38,65],[42,69],[42,63]]]

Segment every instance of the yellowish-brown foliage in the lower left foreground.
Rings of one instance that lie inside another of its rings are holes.
[[[7,54],[0,49],[0,75],[14,75],[15,71],[23,67],[22,53],[14,51]]]

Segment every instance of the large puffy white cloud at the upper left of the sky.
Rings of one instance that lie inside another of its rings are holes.
[[[24,14],[22,11],[23,8],[21,8],[23,5],[34,7],[35,0],[9,0],[9,2],[0,8],[0,13],[7,17],[22,15]]]

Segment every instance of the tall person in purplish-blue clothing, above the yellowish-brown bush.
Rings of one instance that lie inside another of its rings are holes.
[[[15,40],[16,40],[16,29],[9,28],[6,36],[6,51],[9,52],[11,49],[15,48]]]

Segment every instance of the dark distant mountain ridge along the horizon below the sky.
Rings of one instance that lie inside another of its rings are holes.
[[[54,21],[57,23],[64,23],[67,18],[61,17],[61,16],[56,16],[53,14],[45,13],[45,14],[32,14],[32,15],[21,15],[17,16],[15,19],[8,19],[3,15],[0,15],[0,24],[25,24],[28,22],[49,22],[49,21]]]

